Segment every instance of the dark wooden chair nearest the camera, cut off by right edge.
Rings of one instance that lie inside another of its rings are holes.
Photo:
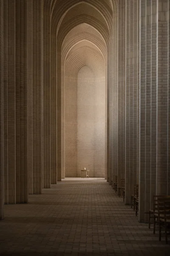
[[[170,197],[158,199],[159,241],[161,241],[161,229],[165,230],[165,243],[167,244],[167,232],[170,231]]]

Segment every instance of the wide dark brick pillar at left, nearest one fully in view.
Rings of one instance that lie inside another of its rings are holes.
[[[4,201],[27,203],[26,0],[4,4]]]

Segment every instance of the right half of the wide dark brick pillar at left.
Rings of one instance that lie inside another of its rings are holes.
[[[27,203],[28,201],[26,7],[26,0],[15,1],[16,203]]]

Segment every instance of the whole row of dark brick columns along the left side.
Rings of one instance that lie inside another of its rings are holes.
[[[28,194],[57,183],[43,15],[41,0],[0,1],[0,216],[4,203],[27,203]]]

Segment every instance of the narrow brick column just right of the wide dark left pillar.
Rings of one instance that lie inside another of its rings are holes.
[[[42,40],[41,9],[42,1],[33,0],[33,193],[41,194],[42,189]]]

